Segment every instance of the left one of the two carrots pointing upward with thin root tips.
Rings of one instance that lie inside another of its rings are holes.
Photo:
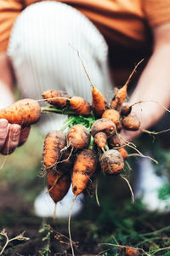
[[[108,103],[105,100],[105,96],[93,84],[92,86],[92,109],[95,116],[101,117],[105,109],[108,108]]]

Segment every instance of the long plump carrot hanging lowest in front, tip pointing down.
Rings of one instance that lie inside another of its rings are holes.
[[[80,195],[86,188],[90,177],[93,176],[97,167],[97,154],[93,149],[83,149],[77,155],[77,160],[72,172],[72,192],[75,196]]]

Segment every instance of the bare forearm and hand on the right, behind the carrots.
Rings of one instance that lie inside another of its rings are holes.
[[[127,141],[133,141],[142,130],[155,125],[165,108],[170,107],[170,22],[156,26],[153,34],[153,54],[129,100],[134,104],[132,114],[140,121],[140,131],[122,131]],[[141,103],[135,105],[136,102]]]

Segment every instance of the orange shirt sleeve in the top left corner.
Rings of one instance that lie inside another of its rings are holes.
[[[14,20],[22,9],[20,0],[0,0],[0,52],[6,51]]]

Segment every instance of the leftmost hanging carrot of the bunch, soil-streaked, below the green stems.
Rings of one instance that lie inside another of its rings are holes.
[[[62,131],[50,131],[43,146],[43,163],[47,169],[55,167],[61,157],[61,149],[65,147],[66,138]]]

